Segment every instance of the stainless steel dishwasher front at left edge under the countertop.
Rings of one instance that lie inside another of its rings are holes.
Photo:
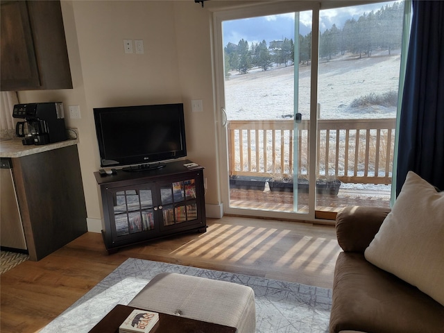
[[[0,157],[0,246],[26,250],[26,239],[12,175],[12,161]]]

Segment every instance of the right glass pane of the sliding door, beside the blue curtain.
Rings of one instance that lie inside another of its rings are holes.
[[[347,198],[373,198],[363,203],[384,207],[390,200],[403,16],[399,1],[320,12],[318,175],[332,186],[341,180]],[[318,206],[330,205],[317,199]]]

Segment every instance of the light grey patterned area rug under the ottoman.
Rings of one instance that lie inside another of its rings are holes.
[[[256,333],[328,332],[331,289],[130,258],[40,333],[88,332],[114,305],[127,305],[149,280],[161,272],[252,287],[256,301]]]

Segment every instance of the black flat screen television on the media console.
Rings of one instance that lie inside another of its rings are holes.
[[[142,171],[187,155],[182,103],[94,108],[94,122],[101,167]]]

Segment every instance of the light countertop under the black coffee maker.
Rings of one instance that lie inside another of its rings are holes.
[[[78,144],[78,139],[67,139],[66,141],[56,142],[55,144],[44,144],[42,146],[22,144],[22,138],[0,140],[0,157],[22,157],[44,151],[52,151],[53,149],[73,146]]]

